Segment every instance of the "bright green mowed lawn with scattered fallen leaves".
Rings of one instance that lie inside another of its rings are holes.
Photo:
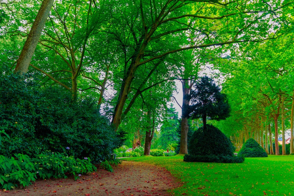
[[[294,156],[245,158],[244,163],[187,163],[183,156],[125,158],[165,167],[183,186],[174,195],[294,196]]]

